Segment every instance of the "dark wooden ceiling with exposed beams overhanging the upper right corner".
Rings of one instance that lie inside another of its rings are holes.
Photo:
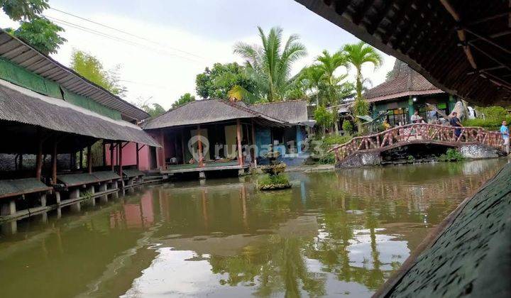
[[[511,105],[511,0],[296,0],[478,105]]]

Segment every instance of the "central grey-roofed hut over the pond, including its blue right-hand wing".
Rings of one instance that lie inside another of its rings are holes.
[[[163,145],[156,158],[161,172],[199,172],[204,177],[206,171],[241,171],[255,165],[270,145],[297,143],[304,138],[302,122],[307,123],[304,101],[247,106],[209,99],[168,111],[143,128]],[[284,153],[300,150],[282,149]]]

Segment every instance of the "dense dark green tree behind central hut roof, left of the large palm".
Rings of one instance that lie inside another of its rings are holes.
[[[227,99],[229,90],[234,86],[255,93],[255,82],[246,75],[245,67],[236,62],[215,63],[195,78],[197,94],[204,99]]]

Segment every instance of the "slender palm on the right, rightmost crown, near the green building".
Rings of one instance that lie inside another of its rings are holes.
[[[363,100],[362,96],[364,82],[362,77],[362,65],[370,63],[373,64],[373,66],[376,68],[382,64],[383,58],[378,52],[376,52],[375,48],[371,47],[367,43],[364,43],[363,41],[359,43],[344,45],[343,51],[346,55],[346,59],[348,60],[349,65],[355,67],[356,70],[356,99],[355,105],[353,106],[353,112],[355,116],[363,116],[368,114],[369,104],[367,101]],[[357,118],[355,120],[358,123],[358,128],[360,130],[361,123]]]

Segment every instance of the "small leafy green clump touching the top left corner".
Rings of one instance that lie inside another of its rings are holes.
[[[32,20],[50,8],[48,0],[0,0],[4,13],[14,21]]]

